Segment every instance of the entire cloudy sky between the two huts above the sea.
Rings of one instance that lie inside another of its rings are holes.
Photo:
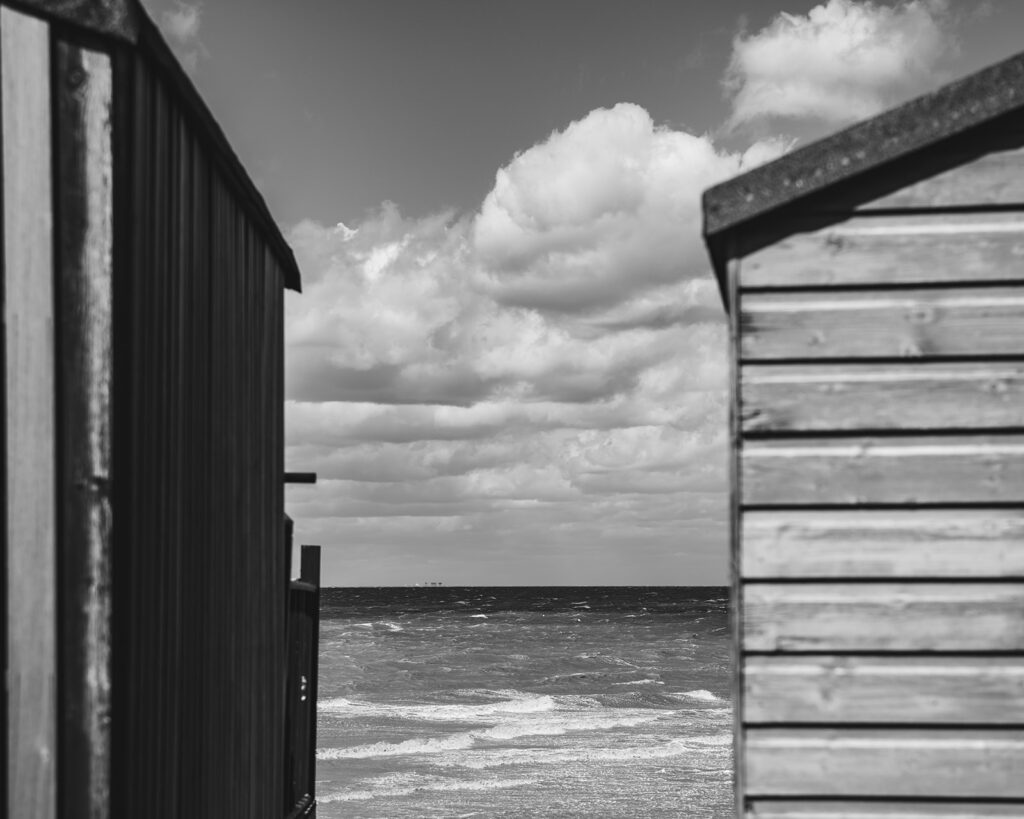
[[[327,586],[724,585],[708,186],[1021,50],[1016,0],[145,0],[295,251]]]

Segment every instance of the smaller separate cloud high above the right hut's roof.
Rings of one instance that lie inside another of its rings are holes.
[[[940,60],[955,49],[950,28],[945,0],[828,0],[806,15],[780,13],[733,41],[729,125],[873,116],[938,83]]]

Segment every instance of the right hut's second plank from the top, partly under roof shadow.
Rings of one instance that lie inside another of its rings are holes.
[[[794,228],[743,259],[743,288],[1020,281],[1024,267],[1024,210],[853,216]]]

